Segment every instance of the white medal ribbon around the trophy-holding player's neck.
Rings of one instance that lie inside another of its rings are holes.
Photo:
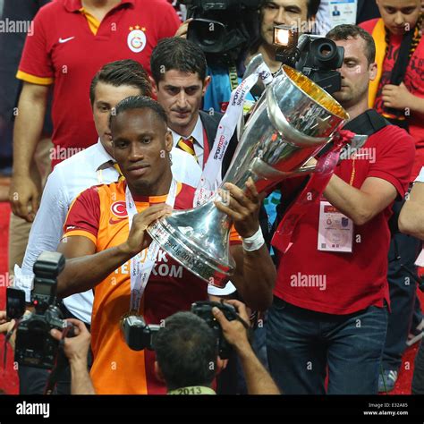
[[[168,196],[165,203],[172,208],[174,208],[176,192],[178,184],[174,180],[171,182],[171,187],[169,189]],[[132,220],[134,216],[138,213],[135,206],[134,199],[132,199],[131,191],[128,188],[128,184],[125,190],[125,203],[128,213],[128,225],[131,231]],[[144,250],[143,250],[144,251]],[[131,301],[130,301],[130,311],[138,313],[140,309],[140,301],[143,296],[143,293],[148,284],[148,278],[155,267],[157,261],[157,254],[159,253],[159,244],[152,241],[150,246],[147,248],[146,259],[144,262],[141,261],[141,253],[138,253],[130,261],[130,272],[131,272]]]

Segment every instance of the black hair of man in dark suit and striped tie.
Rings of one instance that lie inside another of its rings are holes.
[[[165,72],[175,70],[198,73],[199,79],[206,78],[206,56],[202,49],[181,37],[163,38],[157,43],[150,57],[150,69],[153,80],[158,84]]]

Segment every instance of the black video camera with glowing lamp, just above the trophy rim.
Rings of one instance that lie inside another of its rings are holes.
[[[277,61],[292,66],[329,94],[341,89],[342,76],[336,69],[343,65],[344,48],[336,46],[332,39],[309,34],[299,36],[293,27],[276,25],[274,44],[279,47]]]

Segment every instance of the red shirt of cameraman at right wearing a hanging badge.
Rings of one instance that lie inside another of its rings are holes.
[[[389,125],[371,135],[363,148],[369,157],[343,160],[335,174],[348,183],[353,175],[352,186],[357,189],[368,177],[381,178],[403,197],[414,156],[411,136]],[[288,192],[285,189],[290,183],[284,182],[283,193]],[[386,274],[390,215],[391,205],[367,224],[355,225],[352,253],[321,251],[317,249],[319,202],[312,204],[294,228],[292,247],[280,259],[276,296],[300,308],[336,315],[371,305],[382,307],[385,299],[389,301]],[[293,279],[299,275],[322,281],[319,286],[299,286]]]

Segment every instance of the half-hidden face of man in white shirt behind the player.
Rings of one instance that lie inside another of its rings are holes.
[[[106,84],[105,82],[98,82],[94,89],[94,102],[93,102],[93,118],[98,131],[98,137],[103,147],[106,148],[107,153],[112,155],[112,135],[109,129],[109,115],[111,109],[116,106],[124,98],[130,96],[141,96],[144,93],[140,89],[131,87],[129,85],[122,85],[114,87],[113,85]]]

